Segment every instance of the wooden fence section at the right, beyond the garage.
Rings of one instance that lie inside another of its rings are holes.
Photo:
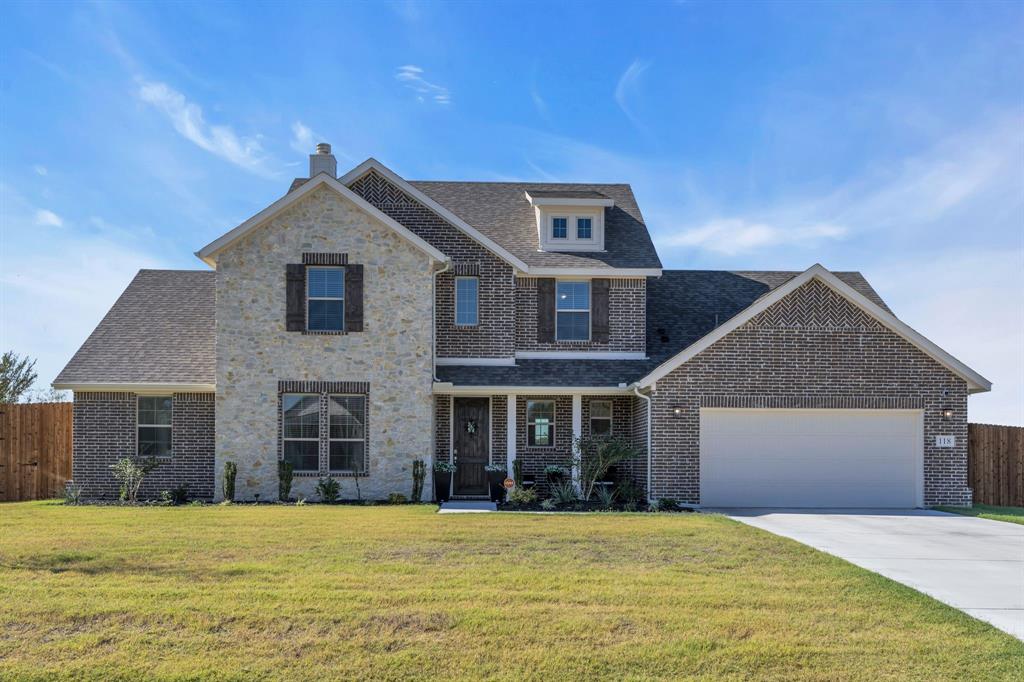
[[[977,504],[1024,507],[1024,427],[968,424],[968,479]]]

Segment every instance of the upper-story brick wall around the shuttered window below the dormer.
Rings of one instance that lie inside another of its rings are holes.
[[[537,278],[516,278],[515,349],[607,350],[645,352],[647,349],[647,281],[613,279],[608,289],[608,342],[537,340]]]

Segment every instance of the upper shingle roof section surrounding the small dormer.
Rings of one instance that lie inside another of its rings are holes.
[[[442,181],[410,184],[530,266],[662,267],[628,184]],[[604,209],[604,252],[538,251],[537,216],[526,200],[527,191],[530,196],[544,193],[550,197],[613,200],[615,205]]]

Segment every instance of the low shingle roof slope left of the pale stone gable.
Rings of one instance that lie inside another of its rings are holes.
[[[215,383],[215,285],[209,270],[139,270],[54,383]]]

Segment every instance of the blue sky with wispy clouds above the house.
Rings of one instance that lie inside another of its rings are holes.
[[[0,345],[41,380],[329,141],[631,182],[667,267],[859,269],[1024,423],[1021,3],[6,3],[0,50]]]

